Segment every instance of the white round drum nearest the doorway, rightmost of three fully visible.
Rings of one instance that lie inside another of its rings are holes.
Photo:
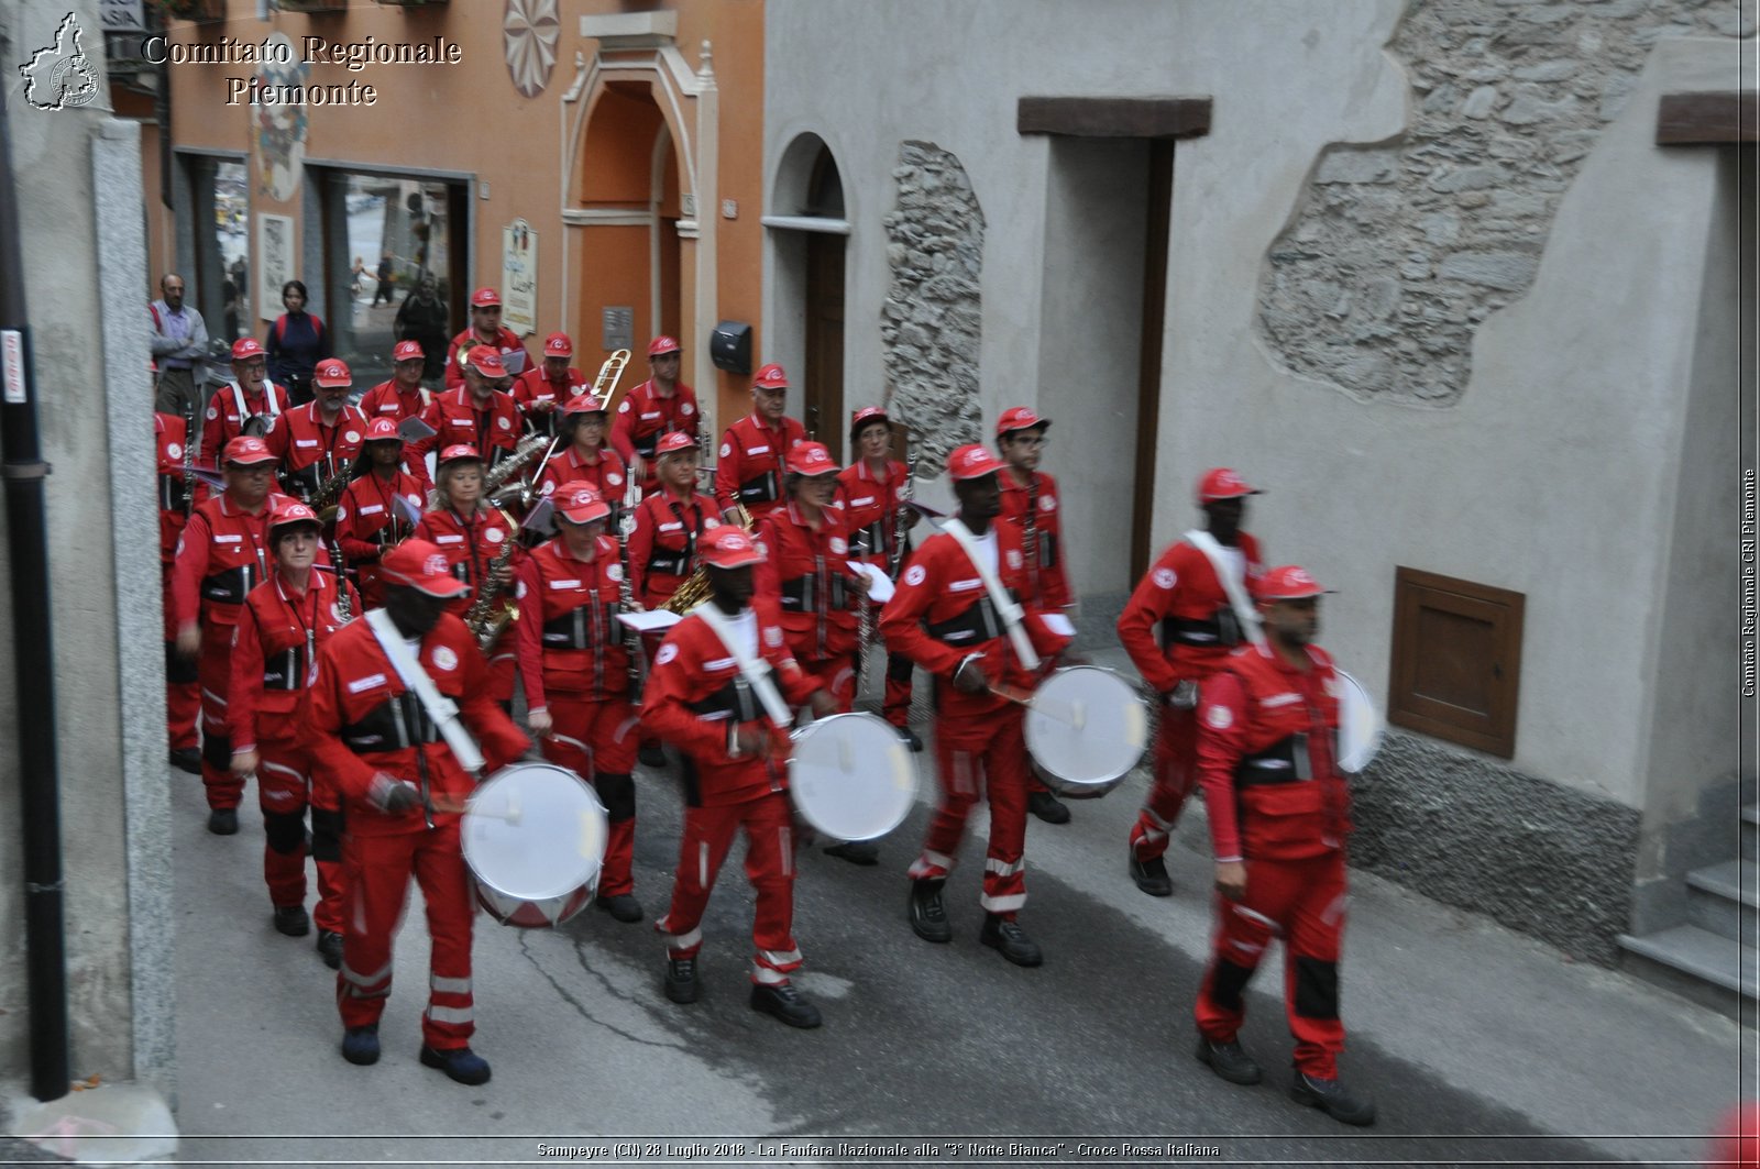
[[[1142,759],[1149,708],[1137,688],[1098,665],[1065,665],[1026,708],[1026,750],[1045,782],[1070,796],[1104,796]]]

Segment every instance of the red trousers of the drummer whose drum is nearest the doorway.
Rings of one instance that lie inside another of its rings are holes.
[[[984,894],[979,905],[998,917],[1014,919],[1026,905],[1026,711],[1003,706],[982,720],[935,724],[935,764],[942,780],[942,803],[929,819],[922,856],[910,866],[913,880],[947,877],[966,831],[966,817],[979,801],[989,801],[991,836],[984,854]]]

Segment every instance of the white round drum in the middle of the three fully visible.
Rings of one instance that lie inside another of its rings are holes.
[[[794,732],[788,790],[801,819],[838,840],[875,840],[917,803],[917,764],[892,724],[831,715]]]

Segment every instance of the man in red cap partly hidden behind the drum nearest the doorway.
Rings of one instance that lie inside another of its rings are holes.
[[[1019,525],[1026,555],[1023,604],[1052,611],[1074,604],[1063,574],[1063,533],[1058,519],[1058,481],[1038,470],[1051,419],[1026,407],[1008,407],[996,419],[996,449],[1008,465],[1001,472],[1001,519]],[[1031,549],[1031,551],[1026,551]],[[1045,824],[1068,824],[1070,810],[1049,787],[1028,773],[1026,808]]]

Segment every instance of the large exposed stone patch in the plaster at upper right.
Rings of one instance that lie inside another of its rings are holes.
[[[1753,19],[1727,0],[1413,0],[1389,46],[1412,121],[1320,155],[1260,271],[1271,350],[1357,396],[1459,400],[1478,324],[1528,292],[1651,48],[1707,33]]]

